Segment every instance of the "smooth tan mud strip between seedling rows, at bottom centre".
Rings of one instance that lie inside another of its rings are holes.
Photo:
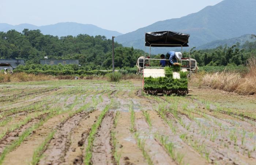
[[[136,100],[129,97],[129,91],[121,90],[117,92],[115,98],[116,106],[114,109],[120,111],[120,116],[117,119],[117,126],[113,129],[117,142],[116,152],[120,155],[120,164],[124,165],[146,165],[147,161],[144,159],[141,150],[137,146],[134,134],[131,133],[131,114],[129,112],[129,105],[133,104],[133,109],[139,110]],[[135,104],[133,103],[135,102]]]

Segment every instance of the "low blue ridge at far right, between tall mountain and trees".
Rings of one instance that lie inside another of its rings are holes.
[[[212,41],[206,44],[203,44],[199,47],[196,47],[196,49],[213,49],[213,48],[217,48],[219,46],[233,46],[236,43],[240,43],[240,45],[242,46],[246,41],[249,42],[255,42],[256,41],[256,35],[253,34],[246,34],[246,35],[242,35],[240,37],[236,37],[236,38],[231,38],[231,39],[225,39],[225,40],[216,40],[216,41]]]

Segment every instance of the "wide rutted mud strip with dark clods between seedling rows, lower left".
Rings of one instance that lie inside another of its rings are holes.
[[[102,93],[104,93],[104,91],[99,92],[95,97],[98,98]],[[101,108],[108,103],[106,98],[104,98],[104,100],[106,100],[106,102],[103,102],[101,105],[98,104],[98,108]],[[91,107],[91,109],[93,108]],[[82,163],[82,146],[90,132],[90,126],[93,125],[99,114],[100,111],[97,109],[86,111],[76,114],[67,119],[67,121],[61,123],[61,125],[58,126],[53,139],[50,141],[48,148],[44,152],[45,157],[39,161],[39,164],[65,164],[67,162],[68,164]]]

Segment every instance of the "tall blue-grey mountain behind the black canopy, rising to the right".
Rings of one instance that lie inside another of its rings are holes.
[[[196,4],[195,4],[196,5]],[[147,27],[116,37],[118,43],[144,50],[144,33],[175,31],[190,34],[189,46],[200,46],[214,40],[256,34],[256,0],[223,0],[197,13],[158,21]],[[170,12],[171,13],[171,12]]]

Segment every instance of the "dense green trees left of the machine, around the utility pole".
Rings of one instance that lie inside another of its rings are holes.
[[[114,43],[115,66],[133,67],[142,50]],[[0,58],[25,59],[26,64],[39,64],[39,59],[78,59],[87,70],[112,67],[112,40],[105,36],[51,36],[40,30],[0,32]],[[101,67],[102,66],[102,67]]]

